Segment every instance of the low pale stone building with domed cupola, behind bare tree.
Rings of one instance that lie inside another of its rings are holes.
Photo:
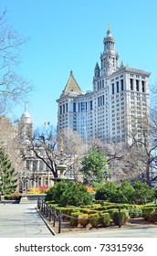
[[[27,107],[25,107],[25,112],[18,122],[18,138],[21,148],[23,148],[24,151],[26,149],[26,144],[29,144],[28,138],[32,137],[33,122],[30,114],[27,112]],[[37,158],[33,151],[30,151],[29,153],[26,152],[24,169],[21,170],[20,175],[19,181],[21,180],[21,190],[23,190],[24,187],[26,189],[32,187],[51,187],[54,184],[50,169],[42,160]]]

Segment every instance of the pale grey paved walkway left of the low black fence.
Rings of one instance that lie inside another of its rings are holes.
[[[36,203],[0,204],[0,238],[52,238]]]

